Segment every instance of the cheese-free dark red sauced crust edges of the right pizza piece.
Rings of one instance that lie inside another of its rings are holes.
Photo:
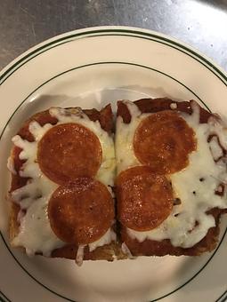
[[[138,99],[134,101],[134,104],[140,109],[142,113],[156,113],[163,110],[178,110],[188,114],[192,113],[191,102],[182,101],[177,102],[173,99]],[[171,104],[176,104],[177,107],[173,109]],[[124,123],[130,123],[131,115],[126,107],[126,104],[122,101],[118,101],[118,111],[117,115],[121,116]],[[207,120],[212,116],[210,112],[200,107],[200,123],[207,123]],[[215,115],[213,115],[215,116]],[[161,242],[153,240],[144,240],[143,242],[138,242],[136,239],[132,239],[126,232],[126,227],[120,227],[120,238],[122,242],[126,242],[127,247],[134,256],[199,256],[203,252],[214,250],[217,242],[219,229],[219,220],[226,210],[212,209],[209,211],[211,215],[215,218],[215,227],[208,230],[207,235],[196,245],[190,249],[183,249],[180,247],[174,247],[169,240],[163,240]]]

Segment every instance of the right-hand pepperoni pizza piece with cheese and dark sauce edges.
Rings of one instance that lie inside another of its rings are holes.
[[[227,130],[194,100],[118,101],[120,239],[133,256],[215,249],[226,212]]]

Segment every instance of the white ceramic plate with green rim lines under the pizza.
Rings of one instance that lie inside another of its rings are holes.
[[[0,290],[3,301],[223,301],[227,217],[202,257],[73,261],[28,258],[7,239],[6,159],[12,135],[37,111],[102,107],[117,99],[197,99],[227,116],[227,77],[189,46],[140,28],[87,28],[54,37],[0,74]]]

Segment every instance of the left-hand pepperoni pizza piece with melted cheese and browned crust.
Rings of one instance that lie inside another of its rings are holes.
[[[112,187],[113,115],[52,107],[12,138],[10,241],[28,255],[121,258]]]

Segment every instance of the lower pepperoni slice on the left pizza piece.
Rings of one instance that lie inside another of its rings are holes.
[[[101,182],[77,179],[74,184],[55,190],[48,203],[48,217],[54,234],[62,241],[88,244],[111,226],[113,199]]]

